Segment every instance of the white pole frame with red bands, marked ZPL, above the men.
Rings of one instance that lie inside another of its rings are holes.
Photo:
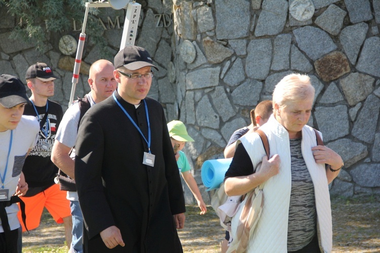
[[[91,1],[91,0],[89,0]],[[82,62],[82,54],[83,48],[85,45],[86,39],[86,24],[88,18],[88,12],[90,8],[102,8],[102,7],[112,7],[113,9],[122,9],[127,6],[127,13],[125,15],[124,28],[123,28],[123,36],[120,44],[120,50],[124,49],[126,46],[133,46],[135,44],[136,34],[137,34],[137,26],[138,20],[140,18],[141,5],[135,3],[135,0],[132,2],[128,2],[129,0],[109,0],[108,2],[87,2],[85,4],[85,18],[83,20],[82,32],[79,35],[79,43],[77,48],[77,55],[75,56],[75,64],[72,74],[72,86],[71,86],[71,94],[70,100],[68,102],[68,106],[72,104],[74,100],[75,88],[77,87],[79,72],[81,68]],[[127,5],[128,2],[128,5]]]

